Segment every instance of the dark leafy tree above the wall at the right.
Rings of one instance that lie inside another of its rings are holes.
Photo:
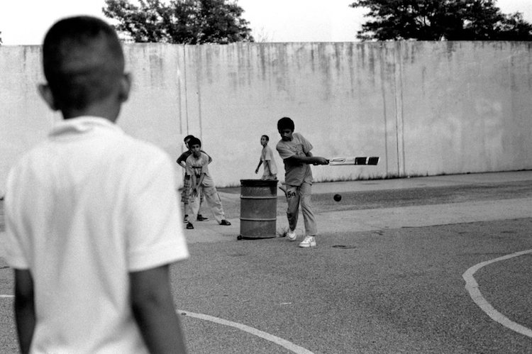
[[[370,9],[360,40],[532,40],[522,13],[501,13],[497,0],[358,0]]]

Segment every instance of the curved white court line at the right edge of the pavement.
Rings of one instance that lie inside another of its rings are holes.
[[[475,280],[475,277],[473,277],[477,270],[480,270],[480,268],[486,265],[490,265],[501,260],[509,260],[510,258],[518,257],[519,255],[526,255],[527,253],[532,253],[532,250],[523,250],[521,252],[504,255],[493,260],[487,260],[486,262],[480,262],[479,264],[474,265],[466,270],[462,275],[462,278],[465,280],[465,289],[467,289],[467,292],[469,292],[471,299],[473,299],[475,304],[477,304],[482,311],[484,311],[494,321],[501,323],[502,326],[505,326],[506,328],[509,328],[517,333],[521,333],[523,336],[532,338],[532,330],[530,328],[526,328],[525,326],[521,326],[519,323],[511,321],[511,319],[497,311],[491,304],[489,304],[489,302],[486,301],[486,299],[484,299],[484,297],[482,297],[482,294],[478,289],[477,281]]]

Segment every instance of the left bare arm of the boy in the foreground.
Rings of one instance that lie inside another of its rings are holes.
[[[15,319],[21,353],[30,353],[35,331],[35,300],[29,270],[15,270]]]

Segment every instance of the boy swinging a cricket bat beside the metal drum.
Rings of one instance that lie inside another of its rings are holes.
[[[292,241],[297,239],[296,227],[299,205],[301,205],[306,236],[299,243],[299,247],[314,247],[318,231],[311,205],[312,171],[309,165],[328,165],[329,162],[324,157],[313,156],[311,153],[313,146],[309,140],[299,133],[294,133],[294,128],[294,121],[288,117],[283,117],[277,122],[277,131],[281,135],[281,140],[277,143],[277,152],[284,162],[285,194],[288,204],[287,238]]]

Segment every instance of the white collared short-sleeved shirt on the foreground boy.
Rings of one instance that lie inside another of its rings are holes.
[[[96,117],[59,123],[13,167],[6,262],[33,276],[32,353],[148,353],[128,273],[188,257],[172,168]]]

